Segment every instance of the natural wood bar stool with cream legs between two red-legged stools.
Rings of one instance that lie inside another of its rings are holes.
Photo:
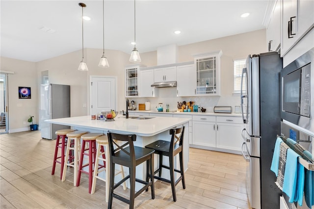
[[[74,171],[73,171],[73,175],[74,175],[74,180],[73,180],[73,184],[76,186],[77,183],[77,179],[78,179],[78,162],[79,162],[79,153],[80,153],[80,137],[81,135],[87,133],[87,131],[72,131],[67,133],[67,137],[68,137],[68,142],[73,143],[74,142],[74,146],[67,146],[67,150],[65,153],[65,163],[64,163],[64,167],[63,167],[63,174],[62,174],[62,179],[61,181],[64,182],[65,180],[65,176],[67,173],[67,166],[73,167]],[[72,150],[72,152],[74,153],[74,159],[72,162],[68,162],[69,160],[69,154],[70,154],[70,150]]]

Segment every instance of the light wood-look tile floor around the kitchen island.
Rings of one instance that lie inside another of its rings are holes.
[[[42,139],[40,131],[0,135],[0,208],[31,209],[98,209],[107,208],[105,183],[97,182],[96,192],[88,193],[87,175],[73,186],[73,168],[67,169],[66,181],[60,181],[60,164],[51,175],[55,140]],[[139,209],[248,209],[245,170],[242,156],[190,148],[186,189],[176,186],[177,202],[173,202],[171,186],[155,183],[155,200],[151,192],[135,198]],[[119,191],[128,196],[129,190]],[[129,208],[113,199],[112,208]]]

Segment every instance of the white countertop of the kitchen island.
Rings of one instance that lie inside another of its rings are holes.
[[[131,117],[131,116],[130,116]],[[188,118],[152,117],[147,120],[126,119],[118,114],[115,121],[91,120],[91,116],[79,116],[45,120],[45,122],[94,130],[110,130],[120,133],[134,133],[139,136],[153,136],[188,122]]]

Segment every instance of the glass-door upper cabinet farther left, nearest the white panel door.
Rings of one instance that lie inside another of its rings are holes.
[[[125,68],[126,72],[126,97],[138,97],[139,96],[139,71],[141,65],[131,65]]]

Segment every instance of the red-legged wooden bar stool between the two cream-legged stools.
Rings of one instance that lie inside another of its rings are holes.
[[[78,166],[78,180],[77,186],[80,182],[80,175],[81,173],[88,174],[88,192],[91,193],[92,190],[92,181],[93,181],[93,165],[96,160],[96,138],[102,136],[103,133],[86,133],[81,136],[82,139],[82,148],[79,157],[79,166]],[[86,144],[88,143],[88,144]],[[86,148],[88,145],[88,148]],[[88,151],[88,153],[85,153]],[[88,157],[88,163],[83,165],[84,156]],[[83,168],[88,166],[88,171],[84,171]]]

